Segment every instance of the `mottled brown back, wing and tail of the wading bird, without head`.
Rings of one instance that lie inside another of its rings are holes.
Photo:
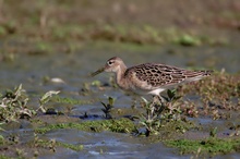
[[[201,80],[211,75],[212,71],[190,71],[158,63],[144,63],[129,68],[124,76],[134,88],[154,90],[168,88],[180,83]]]

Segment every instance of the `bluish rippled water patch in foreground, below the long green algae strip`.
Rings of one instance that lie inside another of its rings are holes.
[[[71,137],[68,137],[69,133],[71,133]],[[157,158],[159,154],[169,156],[172,152],[172,149],[166,148],[163,144],[146,145],[136,137],[109,132],[57,131],[48,133],[47,137],[69,144],[84,145],[82,151],[72,151],[64,158]],[[177,157],[177,155],[171,155],[171,158]]]

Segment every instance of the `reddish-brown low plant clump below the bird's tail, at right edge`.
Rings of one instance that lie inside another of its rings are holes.
[[[178,91],[180,94],[195,93],[203,102],[203,109],[194,107],[195,103],[185,103],[188,115],[211,115],[213,120],[218,120],[230,118],[228,113],[230,110],[240,110],[239,88],[240,75],[228,74],[223,70],[221,72],[216,71],[209,78],[194,83],[194,87],[191,85],[179,87]]]

